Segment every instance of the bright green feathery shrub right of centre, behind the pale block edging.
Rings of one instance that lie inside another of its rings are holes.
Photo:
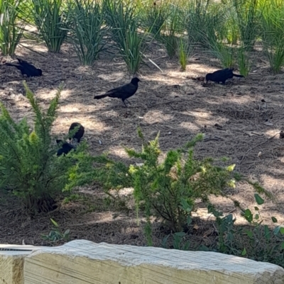
[[[234,186],[234,165],[222,168],[214,166],[213,159],[194,159],[193,147],[202,135],[187,143],[185,153],[182,149],[170,150],[159,162],[158,136],[146,143],[140,130],[138,135],[143,141],[142,151],[126,152],[143,160],[142,166],[131,165],[129,174],[137,210],[142,205],[148,220],[146,236],[151,245],[151,216],[161,217],[174,232],[182,232],[191,222],[195,200],[201,198],[208,203],[210,194],[221,195],[226,186]]]

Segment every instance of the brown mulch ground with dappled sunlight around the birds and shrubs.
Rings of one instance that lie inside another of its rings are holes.
[[[148,67],[138,74],[141,83],[136,95],[129,99],[131,106],[124,108],[117,99],[93,99],[96,94],[130,81],[131,76],[119,57],[106,53],[94,67],[82,67],[69,45],[64,45],[60,54],[50,54],[43,45],[31,42],[23,45],[36,53],[19,47],[16,55],[43,69],[42,77],[27,80],[43,108],[60,82],[64,84],[53,127],[55,137],[62,137],[71,123],[79,122],[85,127],[84,139],[93,154],[107,151],[114,159],[125,160],[125,146],[141,147],[136,134],[138,125],[148,140],[160,132],[163,151],[180,147],[203,132],[205,140],[197,145],[195,156],[229,157],[237,171],[261,181],[275,195],[275,202],[267,201],[261,206],[265,222],[271,224],[271,216],[283,222],[284,139],[280,139],[279,132],[284,129],[284,74],[273,75],[260,52],[253,53],[253,68],[246,79],[232,79],[225,86],[212,83],[204,86],[195,78],[220,69],[216,60],[197,51],[186,72],[180,72],[178,60],[168,59],[165,50],[157,49],[149,57],[163,72],[148,62]],[[21,73],[1,64],[0,81],[0,99],[13,118],[31,120]],[[84,200],[60,203],[55,211],[33,218],[22,212],[14,200],[9,200],[0,208],[0,243],[46,244],[40,234],[50,231],[51,217],[62,231],[70,229],[71,239],[146,244],[133,211],[121,211],[118,205],[107,203],[97,186],[80,188],[80,195]],[[245,183],[238,184],[231,195],[245,208],[255,205],[253,190]],[[212,201],[225,213],[233,212],[237,222],[242,222],[231,202],[224,198]],[[197,215],[198,226],[192,237],[204,242],[208,235],[213,235],[214,228],[202,205]],[[155,222],[154,244],[160,245],[166,234]]]

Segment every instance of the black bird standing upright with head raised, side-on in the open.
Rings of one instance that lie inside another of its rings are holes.
[[[126,84],[124,86],[120,86],[120,87],[115,88],[115,89],[111,89],[111,90],[107,91],[107,93],[104,93],[104,95],[94,96],[94,98],[96,100],[99,100],[101,98],[106,98],[107,96],[109,96],[109,98],[121,98],[121,101],[123,103],[124,103],[124,101],[129,102],[129,100],[127,98],[130,98],[131,96],[133,96],[134,93],[136,93],[136,91],[138,89],[138,82],[140,82],[140,80],[137,77],[135,77],[131,80],[131,82],[129,84]],[[124,103],[124,106],[126,106],[125,103]],[[127,108],[127,106],[126,106],[126,108]]]

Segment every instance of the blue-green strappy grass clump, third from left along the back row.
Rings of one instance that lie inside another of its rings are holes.
[[[69,3],[71,16],[71,40],[80,62],[92,65],[104,50],[104,37],[107,26],[104,25],[104,6],[99,1],[75,0]]]

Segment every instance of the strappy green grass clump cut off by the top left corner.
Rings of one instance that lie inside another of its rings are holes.
[[[18,0],[0,1],[0,50],[3,55],[13,55],[21,40],[26,23],[21,20],[25,4]]]

